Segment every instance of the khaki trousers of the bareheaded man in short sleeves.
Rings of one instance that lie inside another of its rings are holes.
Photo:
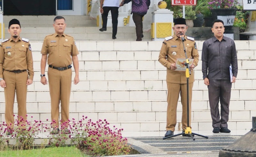
[[[57,69],[48,68],[47,74],[51,96],[51,118],[52,121],[55,120],[56,125],[59,126],[59,105],[61,105],[61,124],[68,122],[69,118],[72,70],[70,68],[59,71]]]

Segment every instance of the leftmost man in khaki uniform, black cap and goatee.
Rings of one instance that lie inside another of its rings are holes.
[[[34,70],[31,46],[28,39],[20,38],[20,22],[9,22],[10,39],[0,45],[0,85],[5,95],[5,121],[13,127],[13,104],[15,91],[18,103],[18,116],[27,119],[27,86],[33,83]],[[9,132],[10,133],[10,132]]]

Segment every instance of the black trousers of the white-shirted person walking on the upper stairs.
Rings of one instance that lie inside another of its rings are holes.
[[[116,37],[117,33],[117,24],[118,24],[118,7],[103,7],[103,14],[101,14],[102,17],[102,28],[107,29],[107,23],[108,23],[108,12],[111,11],[111,17],[112,17],[112,37]]]

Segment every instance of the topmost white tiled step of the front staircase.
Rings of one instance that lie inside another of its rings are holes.
[[[124,30],[126,27],[123,27]],[[135,28],[134,28],[135,29]],[[120,30],[120,29],[119,29]],[[127,31],[128,32],[128,31]],[[33,51],[41,51],[43,40],[41,41],[31,41],[31,46]],[[204,41],[196,41],[199,52],[202,51]],[[236,50],[239,51],[255,51],[256,41],[254,40],[236,40]],[[118,53],[126,53],[130,51],[157,51],[159,53],[163,41],[77,41],[76,47],[80,52],[107,52],[116,51]],[[253,52],[253,57],[255,55]],[[252,55],[251,54],[251,55]],[[128,56],[130,55],[127,54]],[[159,54],[158,54],[159,55]],[[247,54],[246,54],[247,56]],[[126,56],[124,56],[126,57]],[[124,58],[123,57],[123,58]],[[252,56],[251,56],[252,57]],[[250,57],[250,58],[251,58]],[[119,56],[118,59],[122,58]],[[157,56],[158,58],[158,56]]]

